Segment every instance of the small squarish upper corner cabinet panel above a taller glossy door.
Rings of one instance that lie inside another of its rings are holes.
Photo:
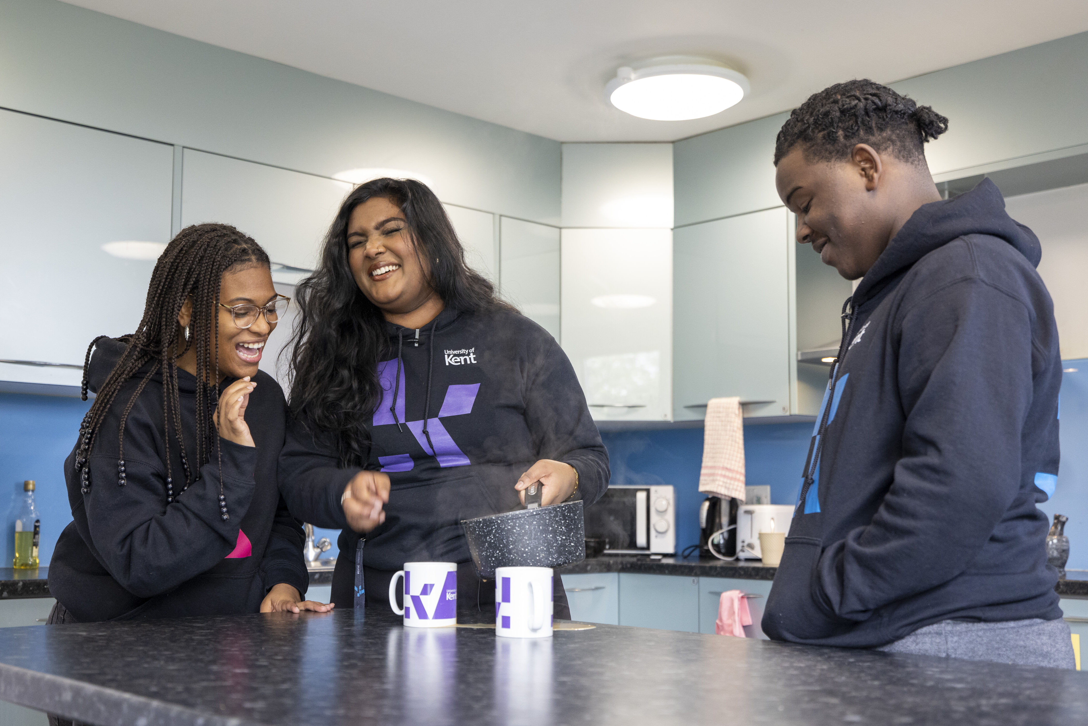
[[[672,226],[671,144],[564,144],[562,226]]]

